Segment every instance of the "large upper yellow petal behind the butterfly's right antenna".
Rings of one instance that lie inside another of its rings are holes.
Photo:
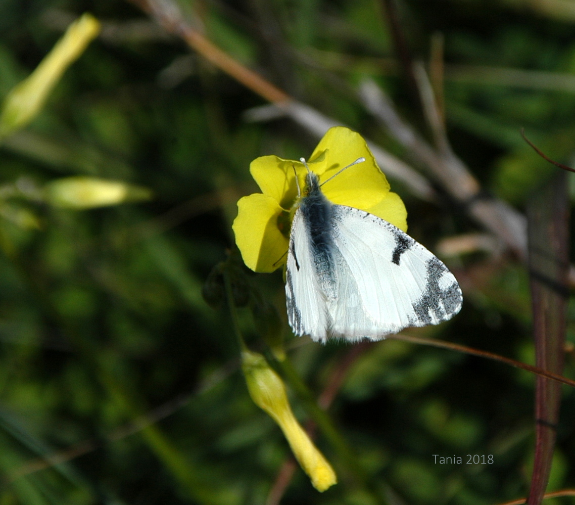
[[[365,162],[343,171],[321,190],[335,204],[365,210],[381,201],[389,192],[389,183],[359,133],[330,128],[313,151],[309,166],[323,182],[358,158],[365,158]]]

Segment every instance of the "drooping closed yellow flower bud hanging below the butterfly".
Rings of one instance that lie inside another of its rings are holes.
[[[338,480],[333,468],[294,417],[287,401],[285,386],[278,374],[261,354],[243,351],[241,359],[252,400],[278,423],[313,487],[323,492],[336,484]]]

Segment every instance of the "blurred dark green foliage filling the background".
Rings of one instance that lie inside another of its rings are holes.
[[[359,79],[377,79],[424,131],[380,2],[182,4],[239,62],[409,159],[354,91]],[[573,160],[575,21],[549,5],[397,1],[417,59],[428,58],[432,35],[444,36],[454,150],[485,189],[519,209],[554,170],[520,127],[551,158]],[[266,334],[277,345],[281,323],[302,380],[314,395],[329,387],[351,347],[294,339],[281,274],[255,276],[233,252],[227,260],[235,202],[256,189],[250,161],[308,156],[317,139],[286,118],[247,123],[244,112],[261,98],[122,0],[0,2],[0,98],[85,12],[102,22],[101,35],[39,116],[0,146],[0,505],[266,503],[289,447],[248,396],[210,272],[235,262],[246,282],[253,310],[238,311],[248,345],[262,350]],[[154,198],[75,211],[38,197],[70,175],[143,186]],[[391,182],[426,246],[477,229],[464,209],[418,201]],[[533,362],[524,267],[480,252],[446,262],[469,279],[462,312],[417,334]],[[572,323],[568,338],[573,377]],[[281,503],[384,496],[379,503],[484,505],[525,496],[533,392],[532,376],[501,364],[405,342],[372,345],[329,410],[370,485],[358,484],[320,431],[339,484],[317,493],[298,469]],[[549,490],[575,487],[575,391],[563,392]],[[305,402],[293,395],[292,403],[305,421]],[[433,454],[493,455],[493,464],[440,465]]]

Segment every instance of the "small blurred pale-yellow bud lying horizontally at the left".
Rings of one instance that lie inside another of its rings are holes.
[[[44,195],[49,204],[68,209],[90,209],[125,201],[147,200],[150,190],[121,181],[95,177],[66,177],[48,183]]]

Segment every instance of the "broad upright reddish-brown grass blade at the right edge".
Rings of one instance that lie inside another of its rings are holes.
[[[557,174],[528,205],[528,251],[535,337],[540,368],[561,373],[569,290],[567,178]],[[528,505],[538,505],[547,487],[561,405],[561,385],[538,376],[535,389],[535,460]]]

